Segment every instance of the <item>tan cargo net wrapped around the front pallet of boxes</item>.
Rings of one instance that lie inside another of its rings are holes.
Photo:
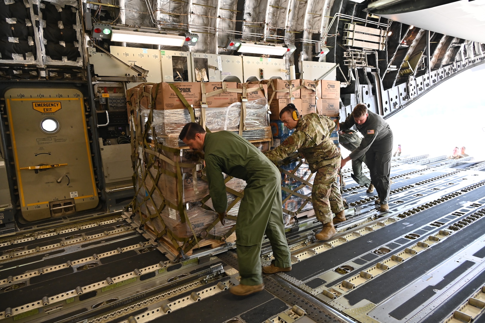
[[[135,170],[131,219],[178,259],[191,255],[197,246],[213,248],[234,241],[232,234],[246,182],[225,175],[228,207],[222,225],[212,208],[202,155],[180,149],[185,144],[178,140],[178,134],[187,122],[203,120],[206,130],[253,136],[253,145],[267,151],[271,142],[267,100],[237,102],[224,108],[194,109],[186,104],[185,109],[156,110],[160,93],[152,97],[143,86],[139,89],[137,94],[132,89],[127,91]],[[140,104],[143,97],[149,97],[150,102]]]

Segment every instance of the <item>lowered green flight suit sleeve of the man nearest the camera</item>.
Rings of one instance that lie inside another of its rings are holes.
[[[206,156],[206,175],[209,183],[209,194],[212,198],[212,206],[217,213],[223,213],[227,210],[226,185],[224,184],[224,175],[221,170],[221,163],[217,156],[212,154]]]

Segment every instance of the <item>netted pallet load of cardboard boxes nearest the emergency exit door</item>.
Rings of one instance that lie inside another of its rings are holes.
[[[246,183],[226,178],[230,209],[222,225],[212,210],[203,156],[184,149],[178,135],[187,122],[197,121],[210,131],[238,132],[259,150],[269,150],[267,85],[141,84],[127,90],[127,100],[135,168],[134,221],[183,254],[201,246],[204,238],[225,241],[234,232]]]

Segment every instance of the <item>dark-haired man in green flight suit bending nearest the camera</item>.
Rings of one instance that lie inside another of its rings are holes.
[[[246,139],[230,131],[206,133],[196,122],[187,123],[179,136],[190,149],[204,152],[209,193],[214,211],[224,224],[227,209],[223,172],[246,181],[236,222],[236,246],[241,282],[230,292],[249,295],[264,289],[261,242],[270,240],[275,260],[264,273],[291,271],[281,207],[281,174],[268,158]]]

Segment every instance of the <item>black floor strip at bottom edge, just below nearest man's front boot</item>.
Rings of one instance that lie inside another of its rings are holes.
[[[151,323],[222,323],[274,298],[266,290],[248,296],[235,296],[226,290],[169,315],[164,315]]]

